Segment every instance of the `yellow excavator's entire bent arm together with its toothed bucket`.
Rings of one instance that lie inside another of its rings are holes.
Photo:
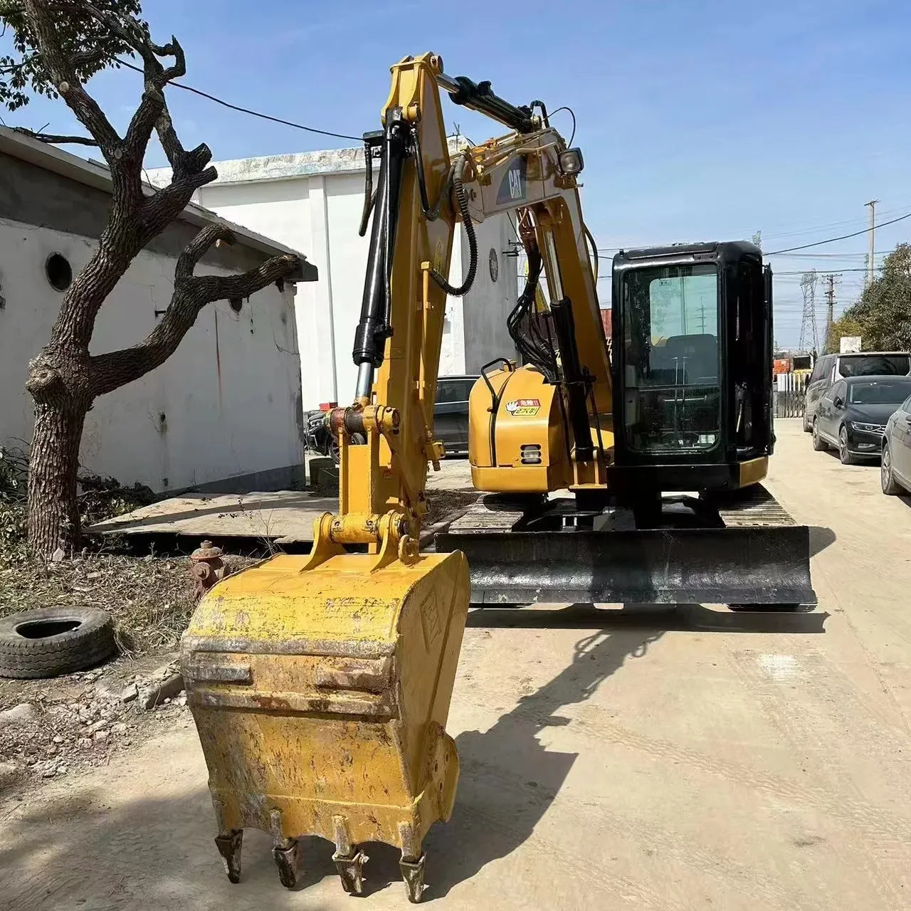
[[[473,220],[517,210],[552,306],[575,311],[575,322],[560,323],[571,358],[562,345],[558,358],[548,349],[570,411],[574,394],[582,415],[588,399],[609,410],[609,371],[578,210],[578,150],[549,128],[539,102],[535,114],[489,83],[446,77],[438,56],[405,58],[392,73],[383,128],[365,137],[362,232],[370,224],[371,238],[357,386],[352,404],[328,415],[340,443],[338,513],[316,522],[309,555],[220,580],[181,654],[230,880],[241,876],[245,828],[271,833],[289,887],[301,836],[317,834],[335,844],[352,893],[363,887],[361,845],[395,845],[408,897],[419,901],[424,836],[455,802],[458,755],[445,723],[469,576],[460,552],[420,553],[418,541],[427,465],[442,455],[432,415],[446,296],[474,280]],[[441,92],[511,132],[451,156]],[[446,276],[459,220],[471,262],[454,288]],[[603,454],[584,429],[578,463],[591,473]]]

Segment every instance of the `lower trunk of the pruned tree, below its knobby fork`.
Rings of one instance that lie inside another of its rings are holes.
[[[62,399],[62,400],[61,400]],[[77,471],[87,406],[68,396],[35,404],[28,466],[28,543],[36,557],[79,544]]]

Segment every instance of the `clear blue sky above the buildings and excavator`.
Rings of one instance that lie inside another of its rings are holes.
[[[516,104],[543,99],[576,114],[582,204],[602,258],[616,248],[673,241],[749,240],[772,253],[863,231],[911,213],[911,5],[865,0],[154,0],[153,35],[187,53],[189,85],[277,117],[360,136],[379,126],[389,67],[434,51],[451,76],[489,79]],[[3,42],[0,40],[0,48]],[[117,126],[138,101],[127,70],[90,90]],[[171,89],[186,147],[215,159],[353,143],[271,124]],[[475,141],[499,125],[445,104],[447,127]],[[60,101],[38,99],[9,125],[77,128]],[[566,113],[553,124],[568,138]],[[86,154],[82,149],[82,154]],[[89,153],[90,154],[90,153]],[[166,164],[160,148],[148,167]],[[875,263],[911,240],[911,218],[875,232]],[[863,287],[867,235],[770,255],[775,336],[799,341],[800,273],[836,275],[835,314]],[[303,251],[306,253],[306,251]],[[609,270],[599,294],[609,302]]]

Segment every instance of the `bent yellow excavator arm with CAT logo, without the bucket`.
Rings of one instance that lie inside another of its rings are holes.
[[[451,157],[441,89],[512,131]],[[379,547],[374,528],[393,512],[409,538],[406,547],[414,547],[426,510],[427,465],[438,469],[442,455],[433,410],[446,295],[468,292],[475,279],[473,222],[501,212],[516,213],[523,225],[527,250],[543,262],[558,312],[548,358],[565,381],[575,480],[603,483],[604,454],[596,452],[590,428],[593,416],[609,415],[610,372],[576,185],[582,157],[566,147],[537,104],[539,116],[496,97],[489,84],[446,77],[435,55],[393,67],[384,128],[365,140],[364,213],[373,211],[373,226],[353,347],[357,387],[353,404],[328,417],[340,440],[336,521],[345,543]],[[462,286],[453,288],[445,276],[458,221],[466,228],[470,264]]]

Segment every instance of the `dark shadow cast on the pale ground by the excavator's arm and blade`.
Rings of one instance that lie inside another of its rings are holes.
[[[466,731],[455,738],[462,770],[458,796],[453,818],[448,824],[435,826],[425,841],[425,902],[445,896],[453,886],[510,855],[531,837],[578,755],[548,749],[539,735],[548,727],[571,723],[561,714],[562,709],[589,700],[628,661],[646,658],[651,645],[666,631],[812,633],[824,631],[827,616],[740,614],[701,605],[475,610],[469,616],[469,627],[552,626],[590,632],[578,640],[564,670],[534,693],[521,697],[492,728]]]

